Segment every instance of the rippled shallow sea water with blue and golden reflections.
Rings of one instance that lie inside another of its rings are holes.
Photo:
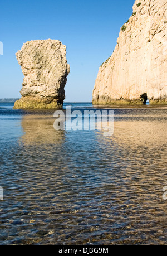
[[[166,244],[167,108],[114,109],[111,137],[54,120],[0,105],[0,244]]]

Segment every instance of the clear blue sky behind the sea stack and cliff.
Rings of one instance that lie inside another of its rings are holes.
[[[67,102],[91,102],[99,66],[111,56],[134,0],[1,1],[0,98],[20,98],[23,74],[15,53],[26,41],[57,39],[67,46]]]

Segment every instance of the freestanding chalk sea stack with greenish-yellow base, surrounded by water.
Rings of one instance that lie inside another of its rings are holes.
[[[62,108],[70,65],[66,60],[66,46],[58,40],[26,42],[16,53],[24,75],[22,98],[15,109]]]

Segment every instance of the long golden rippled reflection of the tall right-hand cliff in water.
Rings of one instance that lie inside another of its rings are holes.
[[[114,120],[113,136],[104,137],[96,131],[101,152],[98,161],[112,177],[119,204],[124,200],[131,202],[132,207],[139,204],[140,214],[132,215],[135,219],[147,219],[146,207],[152,207],[153,201],[156,206],[161,204],[159,191],[164,186],[167,165],[166,110],[122,109],[115,113]],[[158,195],[156,199],[154,195]]]

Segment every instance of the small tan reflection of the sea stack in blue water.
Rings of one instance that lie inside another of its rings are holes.
[[[55,131],[51,115],[25,115],[22,119],[25,144],[61,144],[65,140],[65,131]]]

